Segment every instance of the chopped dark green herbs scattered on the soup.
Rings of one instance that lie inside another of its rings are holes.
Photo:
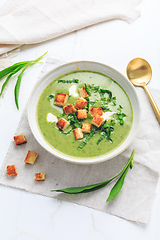
[[[72,80],[60,80],[60,81],[64,82],[64,81],[72,81]],[[103,110],[110,111],[110,109],[108,107],[108,103],[111,101],[112,101],[113,105],[116,106],[116,97],[112,97],[111,91],[109,91],[107,89],[100,89],[99,86],[94,86],[94,84],[86,85],[86,83],[84,83],[84,85],[85,85],[85,89],[88,91],[88,94],[91,95],[91,92],[93,92],[93,91],[99,94],[100,101],[102,103],[101,108]],[[108,98],[106,98],[106,96],[105,96],[106,93],[109,95]],[[52,98],[52,95],[50,95],[48,98],[49,99]],[[87,105],[85,106],[85,109],[87,109],[87,111],[89,111],[90,105],[93,106],[96,102],[99,101],[98,98],[95,99],[94,101],[92,101],[92,100],[90,100],[90,97],[87,97],[86,100],[87,100]],[[70,103],[68,103],[68,105],[70,105]],[[106,139],[107,141],[110,141],[112,143],[113,139],[111,138],[111,134],[114,131],[114,125],[116,124],[117,120],[120,122],[120,125],[124,124],[123,117],[125,117],[126,115],[124,113],[122,113],[122,109],[123,109],[123,107],[121,105],[119,105],[119,107],[117,109],[118,112],[116,113],[118,116],[118,119],[111,119],[110,121],[105,120],[99,128],[93,127],[92,131],[89,134],[85,134],[84,140],[81,141],[80,145],[77,147],[77,150],[81,150],[83,147],[85,147],[85,145],[88,143],[88,141],[91,139],[91,137],[94,136],[96,133],[100,134],[100,138],[96,142],[97,145],[103,139]],[[57,118],[60,119],[63,116],[66,116],[64,111],[61,115],[57,116]],[[79,120],[77,118],[77,115],[75,112],[68,114],[66,117],[70,123],[71,129],[68,132],[64,132],[64,134],[69,134],[75,128],[82,128],[83,121]]]

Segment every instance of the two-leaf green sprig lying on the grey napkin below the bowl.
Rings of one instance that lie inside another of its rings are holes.
[[[134,154],[135,154],[135,149],[132,151],[129,161],[127,162],[127,164],[123,168],[123,170],[120,173],[118,173],[115,177],[113,177],[105,182],[87,185],[87,186],[83,186],[83,187],[70,187],[70,188],[64,188],[64,189],[58,189],[58,190],[51,190],[51,192],[63,192],[63,193],[67,193],[67,194],[87,193],[87,192],[92,192],[92,191],[101,189],[101,188],[105,187],[107,184],[109,184],[110,182],[112,182],[113,180],[118,179],[116,184],[111,189],[109,197],[106,200],[106,202],[109,202],[111,199],[113,199],[115,196],[117,196],[117,194],[122,189],[126,174],[129,170],[129,168],[133,167]]]

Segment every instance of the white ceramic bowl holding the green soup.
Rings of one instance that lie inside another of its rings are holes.
[[[131,131],[128,135],[128,137],[125,139],[125,141],[117,147],[114,151],[103,155],[103,156],[97,156],[97,157],[92,157],[92,158],[77,158],[77,157],[72,157],[65,155],[64,153],[61,153],[51,147],[47,141],[45,141],[44,137],[42,136],[38,124],[36,121],[36,106],[37,102],[39,100],[39,97],[43,90],[54,80],[60,77],[61,75],[64,75],[66,73],[70,73],[72,71],[77,71],[77,70],[90,70],[90,71],[95,71],[99,72],[102,74],[105,74],[112,79],[114,79],[127,93],[131,104],[133,108],[133,124]],[[121,73],[116,71],[115,69],[101,64],[97,62],[90,62],[90,61],[80,61],[80,62],[72,62],[68,64],[64,64],[60,67],[57,67],[56,69],[53,69],[46,75],[44,75],[39,82],[36,84],[34,87],[33,91],[31,92],[29,102],[28,102],[28,121],[29,125],[31,128],[31,131],[36,138],[37,142],[44,148],[46,149],[49,153],[55,155],[58,158],[61,158],[65,161],[72,162],[72,163],[78,163],[78,164],[95,164],[95,163],[100,163],[106,160],[109,160],[121,152],[123,152],[129,144],[132,142],[134,137],[136,136],[136,133],[138,131],[139,125],[140,125],[140,116],[141,116],[141,111],[140,111],[140,103],[138,100],[137,93],[133,87],[133,85],[129,82],[127,78],[125,78]]]

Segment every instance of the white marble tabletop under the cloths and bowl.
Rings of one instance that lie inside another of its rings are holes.
[[[0,7],[5,2],[1,0]],[[142,57],[151,64],[153,70],[148,86],[160,89],[160,1],[143,0],[139,9],[141,17],[131,24],[109,21],[45,43],[24,46],[16,61],[34,59],[48,51],[48,56],[67,62],[102,62],[126,75],[127,63],[132,58]],[[41,67],[35,65],[24,74],[19,111],[14,104],[14,79],[7,88],[0,111],[0,166]],[[4,186],[0,186],[0,196],[0,239],[3,240],[159,239],[160,183],[150,222],[145,226]]]

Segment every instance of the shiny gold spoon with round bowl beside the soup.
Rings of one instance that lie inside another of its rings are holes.
[[[152,69],[149,63],[143,58],[134,58],[131,60],[127,66],[127,76],[128,79],[133,83],[133,85],[138,87],[143,87],[148,94],[149,100],[156,114],[158,122],[160,123],[160,111],[149,91],[146,84],[151,80]]]

